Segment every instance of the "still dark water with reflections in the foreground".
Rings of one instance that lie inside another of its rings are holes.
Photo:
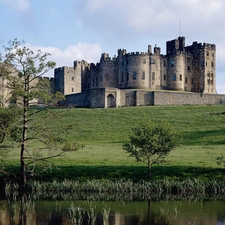
[[[21,218],[22,217],[22,218]],[[0,225],[225,225],[224,201],[0,201]]]

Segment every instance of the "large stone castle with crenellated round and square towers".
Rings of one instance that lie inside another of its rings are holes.
[[[66,96],[63,104],[78,107],[152,105],[160,90],[216,94],[216,46],[185,46],[178,37],[166,42],[166,55],[151,45],[141,53],[119,49],[113,58],[102,53],[97,64],[56,68],[54,88]]]

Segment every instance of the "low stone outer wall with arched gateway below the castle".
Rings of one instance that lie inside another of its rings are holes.
[[[225,95],[117,88],[98,88],[67,95],[62,102],[62,106],[85,108],[214,104],[225,104]]]

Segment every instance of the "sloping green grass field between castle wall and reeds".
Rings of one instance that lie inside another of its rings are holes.
[[[153,121],[165,120],[172,124],[181,139],[164,165],[154,166],[154,178],[202,177],[223,178],[223,165],[216,157],[225,155],[225,106],[149,106],[108,109],[52,109],[63,123],[76,123],[69,133],[58,120],[52,126],[69,141],[84,144],[64,158],[54,159],[59,170],[46,174],[49,178],[131,178],[147,177],[147,167],[135,162],[123,150],[128,133],[145,115]],[[11,151],[10,165],[19,164],[19,152]],[[225,178],[225,176],[224,176]]]

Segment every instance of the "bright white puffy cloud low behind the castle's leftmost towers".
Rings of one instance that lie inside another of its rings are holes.
[[[76,45],[70,45],[66,49],[61,50],[55,47],[43,47],[43,46],[32,46],[26,45],[34,52],[40,49],[43,53],[48,52],[51,54],[48,60],[56,62],[56,68],[62,66],[73,66],[75,60],[85,60],[89,63],[96,63],[99,61],[102,49],[97,44],[82,43],[79,42]],[[45,76],[53,77],[54,72],[49,71]]]

